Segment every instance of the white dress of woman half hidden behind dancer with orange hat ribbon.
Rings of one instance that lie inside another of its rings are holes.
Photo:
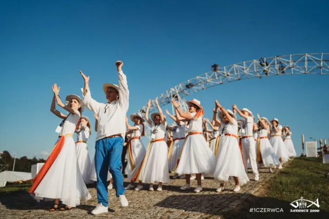
[[[186,135],[186,127],[185,124],[182,124],[181,126],[175,126],[173,127],[173,143],[172,146],[169,148],[168,152],[168,168],[171,172],[177,162],[177,159],[179,157],[180,150],[182,149],[185,135]]]

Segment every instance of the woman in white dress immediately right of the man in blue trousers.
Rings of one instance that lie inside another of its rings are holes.
[[[133,184],[133,175],[132,171],[137,167],[139,168],[140,164],[143,161],[143,158],[146,153],[146,149],[142,143],[142,136],[145,136],[145,128],[144,122],[145,120],[139,113],[135,113],[130,115],[130,119],[134,122],[134,126],[129,125],[128,117],[126,117],[126,126],[128,128],[128,132],[131,133],[131,138],[128,141],[128,163],[126,167],[126,173],[128,176],[128,180],[130,180],[130,184],[126,187],[126,189],[135,188]],[[136,191],[143,188],[143,184],[138,182],[137,187],[135,188]]]

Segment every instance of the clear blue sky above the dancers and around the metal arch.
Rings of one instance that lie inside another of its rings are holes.
[[[47,157],[41,153],[52,150],[60,123],[50,112],[51,87],[61,87],[63,101],[70,93],[81,96],[79,70],[90,75],[92,96],[105,102],[101,86],[117,83],[114,64],[122,60],[131,114],[213,63],[329,53],[328,9],[323,0],[0,0],[0,151]],[[218,99],[226,108],[236,104],[278,118],[290,126],[300,154],[301,134],[329,138],[328,83],[328,75],[287,75],[224,84],[190,98],[201,101],[208,117]],[[94,126],[93,113],[84,115]],[[91,156],[95,137],[88,141]]]

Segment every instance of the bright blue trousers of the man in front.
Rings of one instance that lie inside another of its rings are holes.
[[[95,168],[97,175],[97,200],[103,206],[108,205],[107,199],[107,172],[112,174],[116,197],[124,195],[123,176],[121,173],[121,153],[123,138],[105,138],[96,142]]]

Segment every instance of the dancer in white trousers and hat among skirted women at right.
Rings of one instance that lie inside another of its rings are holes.
[[[252,112],[247,108],[239,110],[236,105],[233,105],[233,109],[239,113],[241,117],[244,118],[241,124],[241,146],[242,146],[242,158],[245,164],[246,173],[248,173],[248,162],[250,162],[252,167],[252,173],[254,175],[254,180],[259,180],[257,162],[256,162],[256,149],[255,141],[252,136],[253,127],[253,116]]]

